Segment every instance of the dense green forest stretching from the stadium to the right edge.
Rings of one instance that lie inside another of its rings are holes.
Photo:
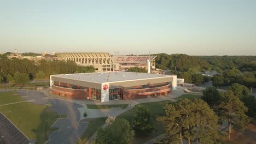
[[[200,85],[209,80],[214,86],[230,86],[240,83],[256,87],[256,56],[188,56],[184,54],[159,53],[156,67],[170,69],[172,74],[183,78],[186,83]],[[199,71],[216,70],[218,75],[212,79],[196,75]]]

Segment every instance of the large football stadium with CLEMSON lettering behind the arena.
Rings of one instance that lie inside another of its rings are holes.
[[[108,52],[62,52],[56,53],[59,61],[73,61],[78,65],[92,65],[95,71],[126,71],[132,67],[155,71],[156,56],[110,56]]]

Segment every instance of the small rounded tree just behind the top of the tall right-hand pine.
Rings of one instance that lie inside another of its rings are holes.
[[[236,97],[241,99],[243,95],[248,95],[249,94],[249,89],[246,86],[240,85],[238,83],[233,83],[231,86],[228,87]]]

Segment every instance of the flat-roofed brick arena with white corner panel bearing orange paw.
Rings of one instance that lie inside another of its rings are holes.
[[[125,71],[50,75],[51,92],[61,97],[101,102],[166,95],[177,87],[176,75]]]

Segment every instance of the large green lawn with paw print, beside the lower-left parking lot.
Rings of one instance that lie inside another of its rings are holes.
[[[50,128],[56,121],[57,113],[47,106],[25,102],[0,106],[0,111],[37,143],[45,142],[45,124],[47,125],[48,135],[53,130],[57,130],[56,128]]]

